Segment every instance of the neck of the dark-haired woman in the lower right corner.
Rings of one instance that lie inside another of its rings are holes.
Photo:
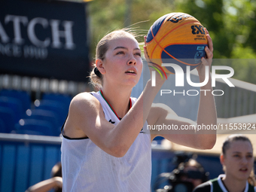
[[[224,186],[227,188],[229,192],[243,192],[245,191],[246,181],[241,181],[236,178],[232,178],[231,176],[225,175],[222,178]]]

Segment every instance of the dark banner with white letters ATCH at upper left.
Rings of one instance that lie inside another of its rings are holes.
[[[0,73],[87,81],[86,4],[2,0]]]

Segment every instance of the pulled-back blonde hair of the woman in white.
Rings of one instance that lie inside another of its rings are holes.
[[[124,37],[127,35],[133,36],[133,38],[135,39],[137,37],[136,32],[133,32],[133,30],[131,29],[118,29],[118,30],[115,30],[114,32],[110,32],[107,35],[105,35],[97,44],[95,60],[105,59],[105,53],[108,50],[109,41],[111,41],[114,38]],[[99,71],[97,72],[95,62],[93,63],[93,70],[92,72],[90,72],[89,78],[90,78],[90,84],[92,84],[96,90],[100,90],[102,88],[103,78],[100,72]]]

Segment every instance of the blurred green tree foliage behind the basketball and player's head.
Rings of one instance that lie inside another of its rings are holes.
[[[88,11],[92,57],[100,38],[114,29],[126,27],[126,21],[138,23],[130,27],[143,36],[164,14],[184,12],[196,17],[208,29],[214,43],[215,59],[256,59],[254,0],[94,0],[89,3]],[[255,84],[253,61],[245,60],[239,65],[230,63],[239,72],[235,72],[234,78]]]

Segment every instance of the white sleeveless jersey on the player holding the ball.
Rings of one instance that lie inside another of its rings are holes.
[[[92,93],[102,105],[105,119],[120,121],[100,93]],[[132,103],[136,102],[131,98]],[[150,191],[151,135],[147,123],[123,157],[105,153],[90,139],[68,139],[62,135],[63,192]]]

